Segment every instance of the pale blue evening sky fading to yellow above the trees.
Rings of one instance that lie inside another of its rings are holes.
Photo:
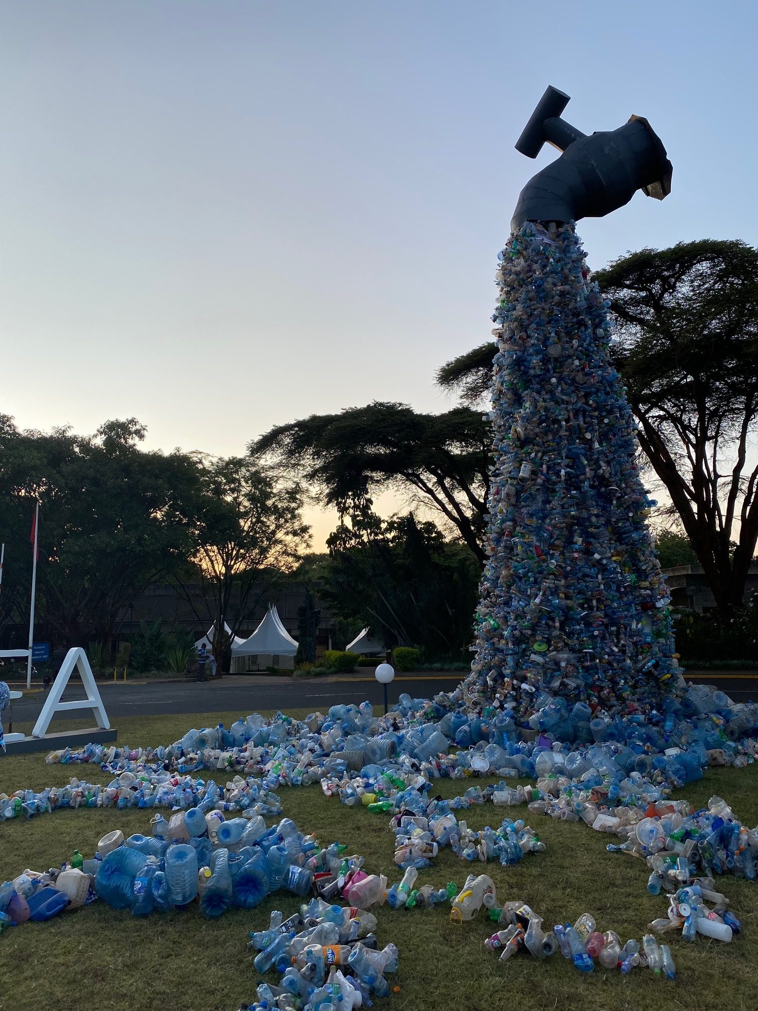
[[[513,150],[548,84],[585,133],[646,116],[674,166],[663,203],[580,222],[590,266],[758,244],[757,29],[740,0],[2,0],[0,411],[231,455],[374,399],[447,409],[435,370],[489,338],[556,157]]]

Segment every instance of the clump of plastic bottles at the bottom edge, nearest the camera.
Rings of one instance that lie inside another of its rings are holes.
[[[375,927],[371,913],[322,899],[311,900],[284,921],[281,912],[273,912],[267,930],[251,932],[249,947],[258,951],[256,971],[275,969],[280,985],[259,984],[258,1002],[250,1011],[351,1011],[370,1006],[373,997],[388,996],[386,975],[397,970],[397,948],[388,944],[379,950]]]

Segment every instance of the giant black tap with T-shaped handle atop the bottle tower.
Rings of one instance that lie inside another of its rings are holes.
[[[638,189],[657,200],[671,192],[671,162],[647,119],[632,116],[619,129],[587,136],[561,118],[568,102],[567,94],[548,87],[516,142],[528,158],[537,158],[546,142],[563,154],[522,190],[512,232],[525,221],[602,217]]]

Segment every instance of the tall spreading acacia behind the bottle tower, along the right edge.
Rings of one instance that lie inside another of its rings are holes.
[[[680,243],[622,257],[593,280],[610,300],[611,355],[640,445],[729,618],[758,539],[758,250]],[[483,344],[448,362],[439,384],[478,403],[492,354]]]

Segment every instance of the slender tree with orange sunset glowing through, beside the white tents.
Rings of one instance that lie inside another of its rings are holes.
[[[192,561],[210,610],[213,655],[220,666],[228,639],[225,625],[235,635],[261,601],[295,569],[308,546],[309,528],[302,521],[297,483],[278,480],[247,457],[199,457],[198,462],[203,503]],[[179,582],[179,588],[194,609],[187,583]]]

